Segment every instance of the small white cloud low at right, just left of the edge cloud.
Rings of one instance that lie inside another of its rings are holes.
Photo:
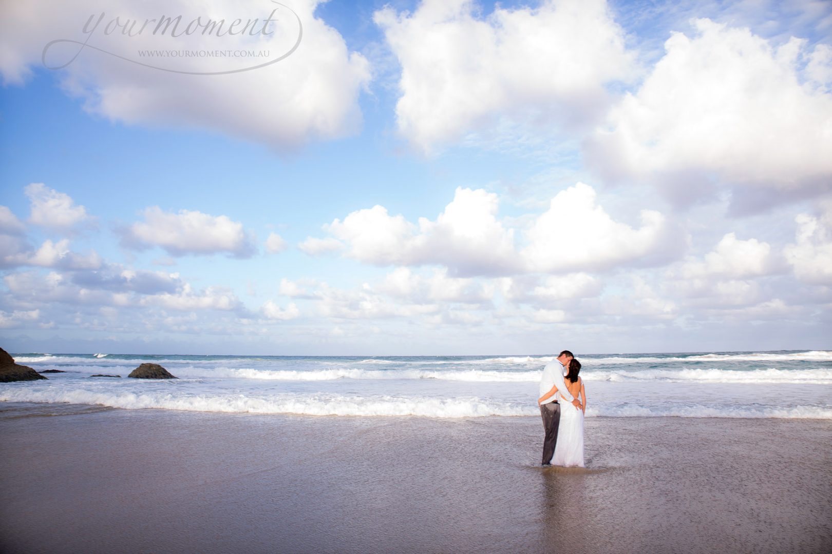
[[[679,274],[684,279],[708,276],[742,279],[768,275],[776,269],[768,243],[761,243],[755,238],[740,240],[735,233],[727,233],[713,252],[708,252],[701,261],[687,261],[681,266]]]

